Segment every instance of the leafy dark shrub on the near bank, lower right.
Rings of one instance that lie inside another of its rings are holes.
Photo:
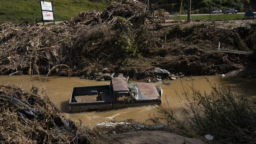
[[[210,93],[199,92],[193,84],[182,87],[183,92],[177,95],[187,101],[183,108],[185,120],[177,119],[171,108],[159,106],[160,114],[153,118],[154,123],[165,121],[172,131],[183,136],[211,134],[217,142],[256,142],[255,105],[247,98],[231,92],[230,87],[217,87],[211,83]]]

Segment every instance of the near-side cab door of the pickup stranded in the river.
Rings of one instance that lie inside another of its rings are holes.
[[[125,108],[128,107],[127,98],[129,96],[128,92],[117,92],[115,97],[115,103],[113,103],[114,108]]]

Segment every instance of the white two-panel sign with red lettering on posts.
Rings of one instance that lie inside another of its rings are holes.
[[[40,1],[40,5],[41,5],[43,25],[44,25],[44,20],[53,20],[53,23],[55,24],[52,2],[44,2],[43,0],[43,1]]]

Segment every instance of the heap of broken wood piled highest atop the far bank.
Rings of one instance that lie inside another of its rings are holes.
[[[76,24],[81,25],[99,25],[99,24],[111,24],[117,23],[117,17],[123,17],[131,23],[143,24],[148,16],[148,11],[143,3],[136,0],[124,0],[122,3],[111,2],[111,4],[101,11],[87,11],[81,12],[79,15],[71,18],[70,21],[66,21],[69,25],[74,26]]]

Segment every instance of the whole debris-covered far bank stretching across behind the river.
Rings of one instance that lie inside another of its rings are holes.
[[[133,9],[131,10],[132,7]],[[121,73],[132,79],[240,74],[255,77],[256,23],[251,20],[162,23],[141,3],[112,3],[106,10],[82,12],[57,25],[0,25],[0,72],[58,74],[96,79]],[[155,68],[169,75],[156,74]],[[52,70],[51,70],[52,69]],[[69,72],[68,72],[69,71]],[[249,72],[248,72],[249,71]],[[237,74],[237,73],[236,73]]]

